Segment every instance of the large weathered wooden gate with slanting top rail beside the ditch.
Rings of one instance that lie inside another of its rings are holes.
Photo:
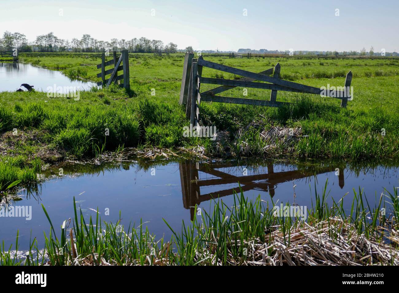
[[[191,66],[190,66],[191,60]],[[234,75],[243,76],[242,79],[219,79],[202,77],[203,67],[208,67]],[[273,77],[269,76],[273,74]],[[263,81],[266,83],[254,82]],[[348,99],[351,100],[350,96],[350,84],[352,81],[352,72],[350,71],[346,75],[344,87],[337,87],[337,90],[322,89],[316,87],[310,87],[308,85],[302,85],[300,83],[294,83],[292,81],[286,81],[280,79],[280,64],[271,69],[260,73],[253,73],[242,69],[221,65],[206,61],[200,56],[198,59],[194,59],[194,54],[186,53],[184,59],[183,79],[182,87],[180,88],[180,104],[186,104],[186,116],[190,118],[191,124],[199,126],[199,104],[201,102],[219,102],[219,103],[231,103],[231,104],[245,104],[254,106],[269,106],[269,107],[280,107],[288,105],[290,102],[278,102],[277,91],[287,92],[300,92],[307,94],[318,94],[320,96],[329,96],[333,98],[341,99],[341,107],[346,107]],[[201,83],[220,85],[217,88],[207,90],[205,92],[199,92]],[[249,98],[233,98],[226,96],[216,96],[225,90],[229,90],[234,87],[243,88],[260,88],[265,90],[271,90],[270,100],[255,100]],[[338,90],[338,88],[340,88]]]

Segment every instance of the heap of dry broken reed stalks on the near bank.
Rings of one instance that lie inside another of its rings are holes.
[[[280,230],[267,235],[270,242],[254,241],[253,260],[247,265],[399,265],[399,251],[368,240],[364,234],[348,233],[350,224],[340,218],[318,223],[304,222],[291,231],[290,243]],[[338,228],[334,228],[337,227]],[[336,235],[332,239],[330,235]]]

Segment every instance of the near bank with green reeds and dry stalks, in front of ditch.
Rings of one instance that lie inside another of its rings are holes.
[[[44,249],[38,238],[28,256],[18,257],[16,247],[0,251],[1,265],[398,265],[397,189],[385,191],[370,207],[363,192],[354,191],[349,214],[343,200],[328,206],[326,186],[312,195],[307,220],[279,216],[258,197],[248,201],[235,195],[234,205],[217,201],[209,213],[202,211],[170,240],[156,239],[143,223],[129,225],[85,219],[74,200],[75,214],[45,233]],[[289,206],[289,203],[286,203]],[[382,208],[387,214],[382,214]],[[390,214],[392,213],[392,214]],[[164,220],[168,225],[167,220]],[[168,225],[169,226],[169,225]],[[12,250],[16,249],[16,252]]]

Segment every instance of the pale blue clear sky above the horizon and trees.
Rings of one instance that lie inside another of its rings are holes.
[[[146,37],[179,49],[399,50],[399,0],[0,0],[0,34]]]

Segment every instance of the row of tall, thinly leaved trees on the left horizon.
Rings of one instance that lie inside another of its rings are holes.
[[[101,41],[84,34],[81,39],[73,38],[60,39],[53,32],[45,35],[38,35],[35,41],[28,42],[26,36],[22,33],[4,32],[0,38],[0,48],[9,50],[16,48],[19,52],[105,52],[129,50],[130,53],[154,53],[160,50],[177,51],[177,45],[170,42],[164,44],[160,40],[150,40],[146,37],[126,39],[111,39],[110,41]]]

